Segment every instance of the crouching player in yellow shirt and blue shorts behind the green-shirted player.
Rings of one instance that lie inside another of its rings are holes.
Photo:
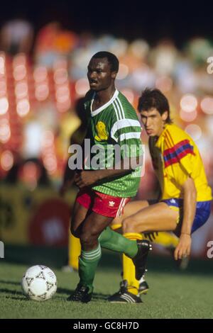
[[[190,255],[192,232],[209,218],[212,191],[197,145],[173,124],[167,98],[158,89],[146,89],[139,98],[138,111],[149,136],[161,198],[154,204],[128,203],[124,215],[114,219],[114,225],[122,224],[124,236],[131,235],[131,239],[141,239],[144,232],[173,232],[179,237],[175,260],[182,259]],[[133,265],[126,256],[123,259],[124,281],[109,301],[134,303],[132,300],[140,291],[139,283],[134,277]]]

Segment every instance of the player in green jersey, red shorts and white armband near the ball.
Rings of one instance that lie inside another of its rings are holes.
[[[115,88],[118,70],[119,60],[110,52],[98,52],[88,65],[90,90],[84,106],[90,113],[89,126],[83,145],[84,165],[75,175],[80,191],[71,222],[72,235],[80,238],[82,247],[80,282],[68,298],[82,303],[92,298],[101,247],[133,259],[137,279],[143,276],[151,248],[147,240],[127,239],[109,227],[111,221],[123,213],[124,205],[136,195],[141,176],[138,163],[142,155],[141,124],[129,101]],[[90,150],[89,154],[87,152],[88,142],[92,154]],[[102,151],[99,166],[94,163],[97,162],[94,147]],[[141,299],[138,297],[133,303],[136,302],[141,303]]]

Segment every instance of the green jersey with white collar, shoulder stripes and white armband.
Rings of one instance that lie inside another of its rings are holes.
[[[119,156],[120,160],[141,156],[141,124],[126,97],[116,90],[106,104],[92,111],[94,96],[95,93],[84,104],[91,115],[86,135],[91,145],[91,154],[89,162],[86,157],[84,169],[112,169],[117,165]],[[98,160],[99,165],[96,164]],[[92,188],[109,196],[132,197],[136,196],[140,178],[141,167],[137,166],[124,176],[103,179]]]

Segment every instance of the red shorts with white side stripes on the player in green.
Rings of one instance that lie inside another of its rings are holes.
[[[77,194],[76,201],[94,213],[109,218],[118,218],[124,212],[124,206],[131,198],[119,198],[108,194],[94,191],[90,188],[83,188]]]

